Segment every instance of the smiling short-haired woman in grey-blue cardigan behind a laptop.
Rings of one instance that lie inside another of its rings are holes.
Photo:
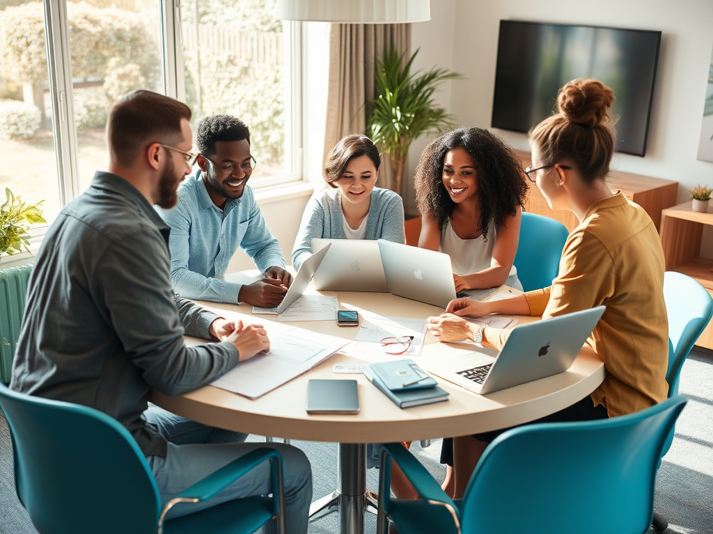
[[[295,269],[312,254],[315,237],[406,243],[404,202],[374,187],[380,166],[379,150],[364,135],[347,135],[329,151],[324,179],[332,189],[315,193],[304,208],[292,248]]]

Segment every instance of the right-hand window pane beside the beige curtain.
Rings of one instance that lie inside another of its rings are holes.
[[[293,177],[293,36],[275,19],[275,0],[188,0],[180,16],[194,131],[207,115],[234,115],[250,128],[252,187]]]

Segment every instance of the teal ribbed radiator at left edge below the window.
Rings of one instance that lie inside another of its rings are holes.
[[[0,271],[0,380],[5,384],[10,383],[31,271],[31,265]]]

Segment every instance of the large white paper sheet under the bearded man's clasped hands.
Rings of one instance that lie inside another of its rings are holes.
[[[270,352],[240,362],[212,382],[213,386],[257,399],[309,371],[348,343],[341,337],[275,323],[266,324],[265,329]]]

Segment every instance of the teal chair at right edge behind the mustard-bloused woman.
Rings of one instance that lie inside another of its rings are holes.
[[[705,330],[713,315],[713,299],[697,281],[673,271],[664,273],[664,300],[669,323],[669,363],[666,382],[668,396],[678,394],[678,383],[686,358],[699,335]],[[671,448],[674,430],[671,429],[664,444],[664,456]],[[654,512],[653,527],[657,532],[668,528],[668,521]]]

